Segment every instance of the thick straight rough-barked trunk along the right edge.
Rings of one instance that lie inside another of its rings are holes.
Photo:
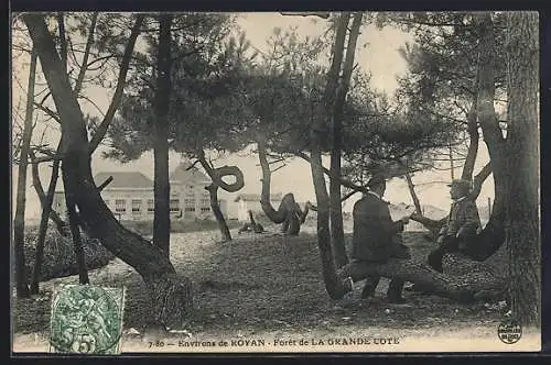
[[[537,12],[507,14],[506,245],[509,254],[512,316],[541,323],[539,231],[539,26]]]

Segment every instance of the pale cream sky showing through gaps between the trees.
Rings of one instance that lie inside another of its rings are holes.
[[[239,26],[246,32],[247,38],[251,45],[259,49],[266,49],[266,40],[272,34],[273,27],[279,26],[282,30],[289,26],[296,26],[301,35],[318,36],[325,31],[325,21],[314,19],[311,16],[284,16],[279,13],[246,13],[240,14],[238,18]],[[371,74],[371,86],[380,91],[391,96],[398,87],[397,76],[403,75],[407,71],[407,64],[398,53],[399,47],[403,46],[406,42],[411,42],[411,36],[399,30],[392,27],[385,27],[377,30],[375,26],[364,26],[361,34],[358,38],[358,46],[356,51],[355,62],[358,67],[368,70]],[[14,59],[13,68],[24,70],[26,59]],[[26,79],[28,76],[24,71],[20,73],[21,80]],[[20,81],[24,87],[24,81]],[[17,104],[21,99],[21,88],[13,86],[13,103]],[[102,109],[107,110],[111,93],[105,89],[95,88],[89,90],[89,98]],[[23,98],[24,102],[24,98]],[[82,104],[85,113],[97,114],[95,107],[89,103]],[[52,143],[56,143],[52,141]],[[152,153],[144,154],[140,159],[128,164],[120,164],[114,161],[102,159],[100,157],[101,148],[95,153],[93,158],[93,172],[142,172],[150,178],[153,178],[153,156]],[[181,157],[177,154],[171,153],[170,168],[174,169]],[[479,152],[475,174],[488,162],[488,153],[483,141],[479,144]],[[258,163],[258,156],[250,155],[230,155],[224,159],[216,162],[217,166],[222,165],[237,165],[241,168],[245,176],[245,187],[239,192],[260,193],[261,185],[261,169]],[[324,161],[325,166],[328,166],[328,158]],[[17,182],[17,166],[12,168],[12,186],[15,190]],[[457,173],[456,173],[457,174]],[[50,179],[50,169],[46,165],[41,167],[41,177],[43,185],[47,185]],[[418,173],[413,176],[413,182],[417,185],[415,191],[422,204],[431,204],[434,207],[449,209],[450,195],[446,186],[451,180],[450,172],[424,172]],[[25,215],[29,219],[40,217],[40,202],[36,193],[32,187],[31,176],[28,177],[28,193],[26,193],[26,211]],[[61,178],[58,182],[61,187]],[[312,184],[312,175],[310,165],[303,161],[294,159],[287,164],[285,167],[277,170],[272,175],[272,192],[293,192],[298,201],[311,200],[315,202],[315,195]],[[15,191],[12,191],[15,196]],[[220,199],[233,199],[235,193],[228,195],[224,191],[219,192]],[[350,211],[354,202],[357,200],[358,195],[350,198],[344,206],[345,211]],[[487,199],[494,199],[494,182],[491,176],[486,180],[483,186],[482,192],[478,198],[478,207],[487,204]],[[392,203],[412,203],[411,197],[406,181],[402,179],[392,179],[387,186],[385,199]]]

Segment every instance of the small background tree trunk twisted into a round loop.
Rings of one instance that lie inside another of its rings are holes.
[[[205,152],[203,150],[197,153],[197,159],[207,173],[208,177],[213,180],[213,182],[205,189],[209,192],[210,208],[213,209],[214,217],[220,228],[222,239],[224,242],[231,241],[228,224],[226,223],[226,219],[222,213],[220,204],[218,202],[218,188],[223,188],[228,192],[239,191],[245,186],[242,172],[237,166],[222,166],[214,168],[213,165],[206,161]],[[228,184],[223,179],[226,176],[234,176],[236,180]]]

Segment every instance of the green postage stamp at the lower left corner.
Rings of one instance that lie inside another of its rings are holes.
[[[125,288],[61,285],[52,298],[50,352],[120,353]]]

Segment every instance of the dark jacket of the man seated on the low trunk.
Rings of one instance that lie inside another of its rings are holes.
[[[406,247],[392,240],[403,231],[403,222],[392,222],[388,204],[372,193],[366,193],[354,204],[353,258],[371,262],[407,258]]]

